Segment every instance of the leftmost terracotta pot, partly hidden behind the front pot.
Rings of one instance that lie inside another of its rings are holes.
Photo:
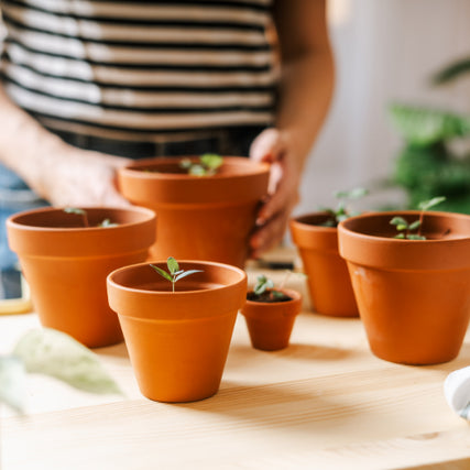
[[[106,277],[147,258],[155,214],[138,207],[86,210],[90,226],[106,218],[119,225],[84,228],[80,216],[47,207],[13,215],[7,229],[42,325],[95,348],[122,341]]]

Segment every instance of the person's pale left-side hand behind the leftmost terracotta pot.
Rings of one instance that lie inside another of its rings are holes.
[[[37,193],[53,206],[129,206],[116,186],[116,170],[129,159],[58,145],[41,164]]]

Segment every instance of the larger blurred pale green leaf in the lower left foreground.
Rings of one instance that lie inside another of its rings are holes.
[[[122,394],[98,357],[70,336],[50,328],[26,332],[13,349],[28,372],[51,375],[96,394]]]

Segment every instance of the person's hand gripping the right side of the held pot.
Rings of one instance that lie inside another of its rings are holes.
[[[253,141],[250,159],[271,163],[269,196],[258,214],[256,229],[250,239],[251,256],[256,259],[284,237],[291,212],[298,201],[302,164],[292,136],[273,128],[264,130]]]

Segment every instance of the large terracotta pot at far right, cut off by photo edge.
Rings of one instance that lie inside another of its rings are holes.
[[[470,317],[470,216],[426,212],[427,240],[395,239],[395,216],[411,222],[419,212],[368,214],[339,226],[371,350],[405,364],[450,361]]]

